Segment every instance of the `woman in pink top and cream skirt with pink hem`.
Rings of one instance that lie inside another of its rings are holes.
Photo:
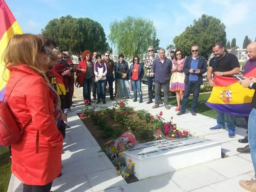
[[[180,101],[183,98],[185,90],[185,73],[183,72],[183,65],[185,58],[181,49],[176,49],[174,52],[174,62],[171,69],[171,92],[176,92],[177,107],[175,111],[179,111],[181,108]]]

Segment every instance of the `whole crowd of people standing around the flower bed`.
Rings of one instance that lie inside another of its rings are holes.
[[[24,49],[20,49],[20,48]],[[250,58],[245,66],[246,71],[256,67],[256,42],[247,47]],[[23,192],[49,192],[55,178],[61,176],[62,143],[65,138],[67,115],[73,111],[72,97],[74,84],[83,87],[83,99],[91,105],[97,97],[97,104],[106,104],[106,84],[108,83],[110,99],[115,100],[113,82],[119,84],[123,99],[132,99],[130,87],[134,92],[134,102],[143,102],[141,83],[144,68],[148,80],[148,102],[153,103],[153,82],[155,82],[155,104],[158,108],[164,104],[169,108],[169,91],[176,92],[177,115],[185,114],[188,97],[193,88],[191,114],[196,115],[200,85],[203,84],[203,73],[207,72],[207,80],[214,87],[214,76],[230,76],[239,73],[237,57],[228,53],[222,43],[213,46],[214,58],[207,70],[206,58],[199,55],[199,46],[191,46],[191,56],[185,58],[181,49],[171,52],[171,59],[165,57],[165,50],[159,49],[155,56],[152,46],[148,47],[149,56],[144,65],[138,56],[133,57],[132,65],[128,67],[124,55],[119,54],[119,61],[104,54],[104,59],[97,52],[85,50],[81,53],[81,61],[77,67],[73,65],[70,53],[60,52],[56,43],[42,35],[13,35],[4,53],[3,60],[11,76],[6,85],[5,98],[15,121],[22,130],[22,138],[11,145],[12,173],[23,182]],[[75,82],[75,75],[77,76]],[[129,83],[130,80],[130,83]],[[240,81],[244,87],[256,89],[254,77]],[[164,100],[161,100],[163,88]],[[116,88],[115,88],[116,90]],[[245,147],[251,152],[252,162],[256,170],[256,130],[255,111],[256,94],[254,94],[253,110],[248,122],[248,137],[239,142],[248,143]],[[225,115],[227,125],[225,124]],[[235,137],[235,116],[217,112],[217,125],[210,130],[225,130],[227,126],[229,137]],[[245,150],[245,149],[244,149]],[[256,190],[254,181],[240,181],[245,189]]]

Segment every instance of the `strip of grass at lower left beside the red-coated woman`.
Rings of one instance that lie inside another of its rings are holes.
[[[5,192],[11,177],[11,161],[8,147],[0,147],[0,191]]]

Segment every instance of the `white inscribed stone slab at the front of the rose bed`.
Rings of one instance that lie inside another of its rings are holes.
[[[201,138],[159,140],[124,151],[135,163],[135,176],[144,179],[221,158],[221,141]]]

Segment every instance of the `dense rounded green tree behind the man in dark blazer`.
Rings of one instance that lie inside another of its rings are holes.
[[[199,46],[200,54],[206,59],[212,53],[212,46],[216,42],[226,45],[225,25],[217,18],[203,14],[198,20],[194,20],[192,25],[179,36],[174,37],[175,48],[183,50],[186,56],[190,55],[191,46]]]

